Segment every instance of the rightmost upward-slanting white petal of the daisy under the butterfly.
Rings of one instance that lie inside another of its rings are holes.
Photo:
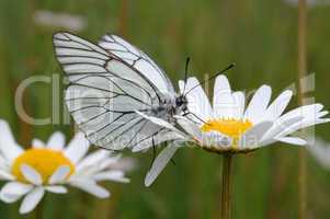
[[[277,119],[282,113],[285,111],[286,106],[288,105],[291,99],[293,96],[292,91],[284,91],[281,93],[275,101],[268,107],[263,120],[275,120]]]

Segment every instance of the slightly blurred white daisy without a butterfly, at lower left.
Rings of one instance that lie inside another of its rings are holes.
[[[99,198],[110,197],[110,192],[98,182],[129,182],[122,170],[113,168],[121,158],[105,150],[88,154],[89,148],[82,134],[77,134],[65,147],[65,136],[55,132],[47,143],[35,139],[32,148],[24,150],[14,140],[9,125],[0,120],[0,180],[8,181],[0,199],[10,204],[24,197],[20,212],[26,214],[37,206],[45,192],[65,194],[67,185]]]

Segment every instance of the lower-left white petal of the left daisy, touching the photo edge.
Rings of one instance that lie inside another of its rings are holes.
[[[10,182],[4,184],[0,192],[0,199],[5,203],[14,203],[23,195],[29,193],[33,188],[32,185],[23,184],[19,182]]]

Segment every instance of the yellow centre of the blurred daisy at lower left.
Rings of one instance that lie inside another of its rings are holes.
[[[12,174],[16,176],[18,181],[26,183],[26,180],[21,172],[22,164],[34,168],[42,175],[43,183],[47,183],[49,177],[59,166],[69,166],[69,175],[75,172],[75,165],[71,161],[66,158],[62,152],[52,149],[29,149],[14,160],[11,169]]]

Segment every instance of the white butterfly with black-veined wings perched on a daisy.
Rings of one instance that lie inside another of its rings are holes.
[[[140,151],[182,138],[146,118],[173,124],[174,115],[186,112],[187,101],[145,53],[115,35],[94,45],[57,33],[54,46],[70,82],[68,110],[93,145]]]

